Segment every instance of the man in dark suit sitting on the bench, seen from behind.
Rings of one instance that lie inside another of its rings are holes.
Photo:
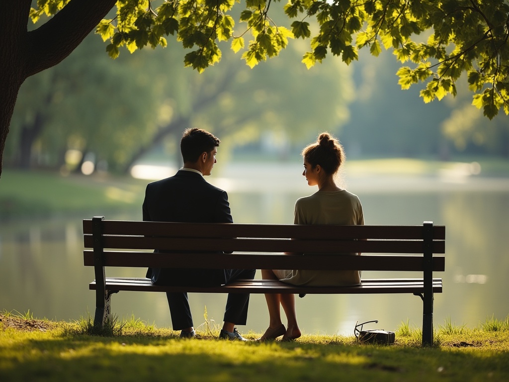
[[[219,139],[208,131],[184,131],[180,151],[184,167],[176,175],[147,185],[143,220],[153,222],[232,223],[228,194],[208,183]],[[213,256],[213,255],[212,255]],[[222,285],[236,279],[253,279],[256,269],[149,268],[147,277],[158,285]],[[195,336],[187,293],[166,293],[174,330],[180,337]],[[245,325],[249,294],[230,293],[219,338],[246,341],[235,328]]]

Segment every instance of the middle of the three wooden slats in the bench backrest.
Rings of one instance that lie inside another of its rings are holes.
[[[84,237],[84,247],[93,247],[92,236]],[[103,236],[103,248],[168,249],[172,251],[249,252],[366,252],[422,253],[422,240],[281,240],[252,238],[164,238],[148,236]],[[445,242],[435,241],[433,253],[445,253]]]

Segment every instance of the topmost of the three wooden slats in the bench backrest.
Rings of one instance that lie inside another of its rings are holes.
[[[189,226],[193,229],[189,229]],[[174,223],[134,222],[108,220],[103,222],[105,235],[142,235],[168,237],[300,237],[304,239],[422,239],[423,228],[419,226],[338,226],[338,225],[285,225],[243,223]],[[83,233],[92,234],[92,220],[83,220]],[[433,226],[433,239],[445,239],[445,226]]]

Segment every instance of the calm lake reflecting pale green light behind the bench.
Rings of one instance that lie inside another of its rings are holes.
[[[218,169],[207,180],[227,190],[238,223],[292,223],[295,200],[316,187],[306,185],[301,166],[237,165]],[[509,314],[509,179],[464,173],[436,176],[345,174],[346,188],[362,202],[366,224],[446,226],[446,271],[443,293],[435,294],[434,323],[450,319],[476,326],[492,316]],[[93,268],[82,260],[81,220],[91,214],[52,217],[0,225],[0,309],[30,310],[34,317],[78,320],[93,316],[95,294],[88,289]],[[106,219],[140,220],[138,211],[107,215]],[[119,276],[119,275],[115,275]],[[140,269],[123,270],[140,277]],[[363,272],[363,277],[375,272]],[[391,277],[416,277],[394,272]],[[260,278],[260,271],[257,272]],[[208,318],[221,324],[226,295],[190,294],[195,326]],[[122,292],[112,297],[112,312],[120,319],[139,318],[171,328],[163,293]],[[419,297],[399,295],[307,295],[297,298],[299,324],[307,334],[353,335],[357,321],[379,320],[365,329],[396,330],[402,322],[421,328]],[[285,322],[285,321],[284,321]],[[268,313],[263,295],[251,295],[246,326],[263,332]],[[366,325],[368,326],[368,325]]]

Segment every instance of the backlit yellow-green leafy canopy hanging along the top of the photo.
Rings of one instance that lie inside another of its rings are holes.
[[[54,14],[68,1],[39,0],[32,18]],[[492,119],[501,109],[509,114],[508,0],[288,0],[288,27],[269,15],[279,0],[245,0],[240,30],[234,29],[235,3],[240,0],[119,0],[116,17],[102,20],[97,33],[109,41],[112,58],[121,47],[164,47],[166,37],[175,36],[190,50],[185,66],[199,72],[219,62],[220,41],[242,50],[250,67],[277,56],[291,38],[310,41],[302,59],[307,68],[329,52],[350,64],[359,49],[378,56],[383,47],[413,63],[400,68],[399,84],[408,89],[426,83],[420,92],[425,102],[456,95],[456,81],[466,73],[472,103],[485,116]]]

